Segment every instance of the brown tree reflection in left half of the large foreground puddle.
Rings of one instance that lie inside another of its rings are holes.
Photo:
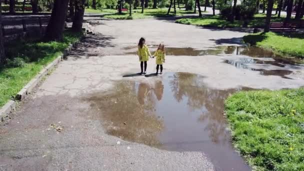
[[[154,113],[155,98],[149,89],[147,84],[141,84],[136,94],[135,83],[124,81],[115,85],[114,92],[100,96],[95,94],[88,100],[98,107],[107,133],[157,146],[160,142],[156,135],[162,130],[163,121],[157,119]]]

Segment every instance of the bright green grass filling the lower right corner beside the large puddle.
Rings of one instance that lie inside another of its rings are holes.
[[[304,87],[237,92],[225,101],[232,141],[255,170],[304,170]]]

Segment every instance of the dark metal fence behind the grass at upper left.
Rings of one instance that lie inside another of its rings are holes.
[[[27,31],[39,31],[39,33],[43,33],[48,21],[49,17],[11,18],[9,20],[2,20],[2,34],[5,36]]]

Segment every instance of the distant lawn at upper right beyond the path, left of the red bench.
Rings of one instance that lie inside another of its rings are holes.
[[[265,22],[265,14],[255,14],[254,18],[249,21],[248,27],[263,27]],[[283,21],[284,17],[272,17],[272,22]],[[177,19],[177,23],[192,24],[199,26],[212,26],[212,27],[242,27],[243,21],[235,20],[234,22],[227,21],[220,17],[220,15],[208,15],[201,18],[182,18]]]

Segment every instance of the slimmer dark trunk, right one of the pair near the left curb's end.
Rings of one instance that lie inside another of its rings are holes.
[[[75,0],[75,14],[73,17],[72,31],[81,32],[85,0]]]

